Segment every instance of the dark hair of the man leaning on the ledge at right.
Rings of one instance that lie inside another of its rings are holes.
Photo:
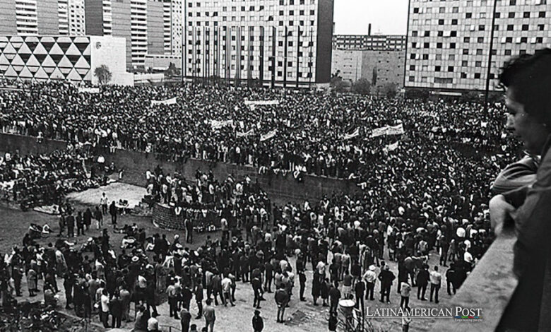
[[[524,112],[545,124],[551,124],[551,49],[521,54],[507,61],[499,74],[499,85],[514,88],[514,99]]]

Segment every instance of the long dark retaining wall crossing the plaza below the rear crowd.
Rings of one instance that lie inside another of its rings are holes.
[[[54,150],[64,149],[66,142],[45,140],[38,144],[36,138],[13,134],[0,134],[0,152],[15,152],[26,154],[51,153]],[[179,172],[186,179],[194,179],[196,170],[208,172],[212,170],[216,179],[225,179],[232,174],[235,179],[244,179],[249,176],[253,182],[258,182],[263,190],[275,203],[285,201],[302,201],[308,199],[315,201],[324,195],[330,196],[340,191],[353,193],[360,191],[357,185],[349,180],[329,179],[304,175],[302,182],[297,182],[291,173],[285,177],[281,174],[258,174],[256,167],[238,166],[225,162],[208,162],[204,160],[189,159],[187,162],[166,162],[156,160],[152,154],[146,158],[146,153],[131,150],[117,150],[112,155],[105,155],[105,162],[109,165],[114,162],[117,168],[124,168],[123,182],[146,186],[146,171],[153,172],[160,165],[165,172]]]

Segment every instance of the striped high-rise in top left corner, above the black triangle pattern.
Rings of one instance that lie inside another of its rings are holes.
[[[0,35],[84,35],[83,0],[0,0]]]

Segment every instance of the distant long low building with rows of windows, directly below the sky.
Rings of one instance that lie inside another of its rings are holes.
[[[333,49],[405,50],[405,35],[334,35]]]

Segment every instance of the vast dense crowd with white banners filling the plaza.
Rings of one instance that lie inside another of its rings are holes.
[[[173,97],[175,104],[151,105]],[[245,100],[278,103],[250,107]],[[82,254],[73,254],[63,241],[46,248],[24,242],[14,250],[10,268],[4,266],[7,276],[21,268],[28,278],[64,277],[66,293],[73,294],[68,303],[84,315],[97,304],[105,326],[110,311],[114,326],[130,320],[134,302],[138,331],[154,331],[154,321],[153,330],[144,321],[157,314],[160,291],[167,292],[170,315],[182,318],[183,331],[189,331],[192,297],[198,316],[204,315],[213,331],[211,301],[218,304],[220,297],[234,304],[239,280],[251,283],[255,307],[273,285],[278,321],[295,293],[305,300],[307,281],[314,304],[321,298],[330,306],[331,321],[341,297],[355,298],[362,309],[364,299],[374,300],[377,280],[381,302],[389,302],[396,285],[408,307],[411,287],[419,287],[417,298],[423,300],[429,284],[430,300],[438,302],[442,272],[429,268],[429,252],[440,256],[439,265],[450,263],[448,292],[455,292],[492,242],[490,184],[519,149],[503,133],[502,105],[485,110],[458,102],[202,85],[109,87],[90,94],[61,83],[25,85],[21,92],[0,93],[0,102],[5,132],[144,150],[177,162],[199,158],[251,165],[259,172],[293,172],[297,180],[303,173],[346,178],[360,186],[357,194],[278,206],[250,179],[219,182],[198,172],[190,184],[178,174],[153,170],[147,174],[148,194],[172,203],[174,213],[214,206],[223,237],[190,250],[178,236],[170,242],[148,239],[145,230],[126,226],[121,231],[132,241],[118,257],[105,231],[90,239]],[[374,135],[396,125],[403,133]],[[63,218],[68,213],[70,208]],[[186,242],[193,232],[186,227]],[[294,267],[290,256],[296,256]],[[396,275],[386,261],[398,262]],[[304,273],[307,263],[311,280]],[[112,310],[119,301],[122,309]]]

